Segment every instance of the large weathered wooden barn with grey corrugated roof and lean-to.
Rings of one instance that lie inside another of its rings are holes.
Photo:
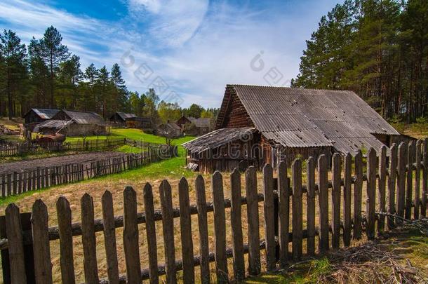
[[[227,85],[215,130],[183,144],[210,173],[389,146],[399,133],[349,90]]]

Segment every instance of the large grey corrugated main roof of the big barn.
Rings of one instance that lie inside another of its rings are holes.
[[[216,128],[236,95],[255,128],[284,147],[334,147],[342,153],[379,149],[373,134],[399,135],[382,116],[349,90],[309,90],[227,85]]]

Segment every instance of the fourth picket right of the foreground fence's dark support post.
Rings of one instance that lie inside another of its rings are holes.
[[[328,250],[328,168],[326,155],[318,158],[319,190],[319,251]],[[294,231],[294,230],[293,230]]]

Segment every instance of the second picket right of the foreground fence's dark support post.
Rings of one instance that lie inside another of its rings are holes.
[[[302,258],[303,207],[302,207],[302,161],[297,159],[291,165],[293,179],[293,260]]]

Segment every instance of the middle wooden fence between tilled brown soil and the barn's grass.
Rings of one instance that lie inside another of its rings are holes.
[[[163,158],[170,158],[173,154],[172,148],[166,145],[163,148],[165,149],[150,147],[139,154],[105,158],[91,163],[72,163],[2,174],[0,175],[0,197],[22,194],[58,184],[81,182],[102,175],[140,168],[142,165],[161,161]]]

